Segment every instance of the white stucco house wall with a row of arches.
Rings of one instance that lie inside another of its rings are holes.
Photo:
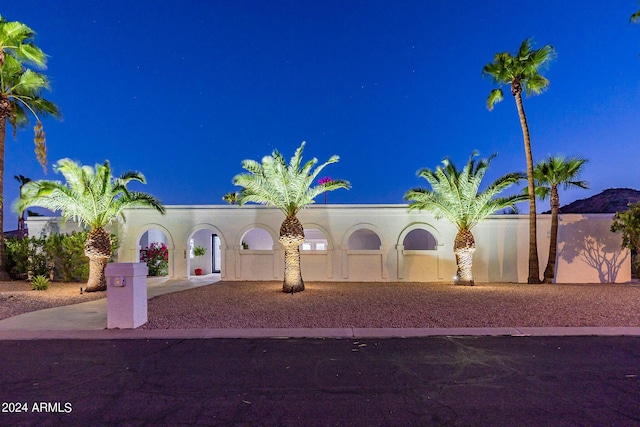
[[[193,271],[193,266],[188,269],[189,240],[199,235],[199,230],[206,230],[209,250],[211,234],[220,238],[223,279],[283,279],[284,250],[278,242],[278,231],[284,215],[277,209],[253,205],[167,206],[164,216],[150,209],[133,209],[125,214],[127,221],[118,227],[121,262],[137,261],[141,236],[147,230],[159,229],[169,249],[169,275],[187,277]],[[620,235],[609,231],[611,217],[561,215],[558,283],[630,280],[629,251],[620,248]],[[305,228],[318,230],[327,241],[326,250],[301,251],[302,275],[307,281],[451,282],[456,272],[452,248],[457,230],[427,212],[409,212],[406,205],[313,205],[301,211],[299,218]],[[32,221],[30,218],[30,230]],[[38,228],[38,221],[43,220],[35,219],[33,229]],[[528,215],[495,215],[474,227],[476,282],[527,281],[528,221]],[[550,222],[550,215],[538,215],[541,276],[547,262]],[[262,244],[260,249],[251,245],[248,250],[242,249],[243,238],[254,228],[261,230],[261,241],[270,237],[270,249]],[[415,229],[424,229],[435,238],[435,250],[405,249],[405,238]],[[313,233],[315,237],[318,232]],[[373,241],[375,248],[371,247]]]

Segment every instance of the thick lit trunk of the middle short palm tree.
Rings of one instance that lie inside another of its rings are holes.
[[[284,246],[284,283],[282,292],[304,291],[300,268],[300,245],[304,243],[302,223],[295,215],[285,218],[280,227],[280,243]]]

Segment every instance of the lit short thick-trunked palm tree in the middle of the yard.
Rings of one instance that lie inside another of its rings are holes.
[[[259,203],[276,207],[285,214],[279,238],[284,246],[282,291],[290,293],[304,290],[300,270],[300,245],[304,242],[304,229],[297,217],[298,212],[314,203],[314,199],[322,193],[350,187],[349,182],[344,180],[332,180],[311,187],[320,171],[325,166],[336,163],[339,157],[331,156],[314,169],[318,163],[316,158],[302,164],[304,145],[302,142],[288,165],[278,150],[263,157],[262,164],[254,160],[243,160],[242,168],[248,173],[233,178],[233,184],[242,187],[238,200],[241,206],[247,202]]]

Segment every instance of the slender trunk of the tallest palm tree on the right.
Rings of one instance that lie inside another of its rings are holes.
[[[522,136],[524,139],[524,152],[527,158],[527,186],[529,190],[529,278],[528,283],[540,283],[540,264],[538,261],[538,231],[536,218],[536,197],[535,186],[533,181],[533,155],[531,154],[531,138],[529,136],[529,125],[527,124],[527,116],[524,113],[522,105],[522,88],[520,82],[512,83],[511,93],[516,100],[518,107],[518,116],[520,117],[520,126],[522,127]]]

